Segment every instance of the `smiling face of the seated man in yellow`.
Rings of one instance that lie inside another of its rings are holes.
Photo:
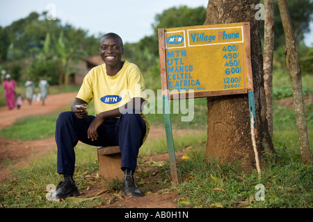
[[[115,67],[121,61],[123,54],[122,41],[113,35],[102,37],[99,44],[100,56],[109,67]]]

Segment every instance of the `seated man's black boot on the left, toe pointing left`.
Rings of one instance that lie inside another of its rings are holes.
[[[79,196],[80,192],[73,177],[63,174],[63,180],[58,183],[56,191],[52,194],[53,199],[65,199],[69,196]]]

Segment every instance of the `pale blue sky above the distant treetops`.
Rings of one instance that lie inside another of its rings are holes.
[[[207,8],[208,0],[0,0],[0,26],[6,27],[27,17],[31,12],[49,11],[49,19],[56,17],[62,24],[88,31],[88,35],[117,33],[124,42],[138,42],[152,35],[155,15],[174,6]],[[305,44],[313,45],[311,33]]]

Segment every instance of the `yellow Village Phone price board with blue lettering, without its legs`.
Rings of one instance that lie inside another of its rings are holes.
[[[190,90],[195,98],[253,91],[248,22],[160,28],[159,56],[170,99]]]

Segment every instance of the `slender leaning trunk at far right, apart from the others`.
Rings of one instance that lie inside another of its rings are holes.
[[[287,1],[278,0],[278,8],[286,37],[286,62],[291,80],[292,94],[294,96],[294,111],[296,114],[296,126],[300,144],[301,159],[304,164],[312,164],[309,137],[307,135],[307,123],[305,120],[305,105],[303,103],[301,69],[298,53],[294,40],[294,30],[291,25]]]

